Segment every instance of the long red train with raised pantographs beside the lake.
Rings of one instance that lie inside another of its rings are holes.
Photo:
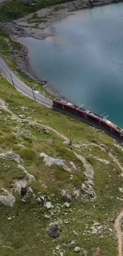
[[[75,104],[72,104],[60,99],[54,99],[53,106],[56,106],[58,108],[62,108],[67,111],[73,112],[77,115],[80,115],[85,119],[89,119],[95,123],[98,123],[100,126],[105,127],[106,129],[110,130],[112,133],[115,133],[119,137],[123,137],[123,130],[119,128],[117,125],[115,125],[114,123],[111,123],[109,120],[107,120],[106,118],[103,118],[102,116],[96,115],[88,110],[85,110],[84,108],[79,108]]]

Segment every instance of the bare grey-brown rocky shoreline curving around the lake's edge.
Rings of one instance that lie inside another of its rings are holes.
[[[45,32],[47,28],[53,22],[62,20],[63,18],[74,15],[75,10],[80,10],[83,8],[93,8],[97,5],[104,5],[109,3],[118,3],[119,0],[74,0],[73,2],[67,2],[63,4],[53,5],[48,8],[43,8],[36,13],[27,15],[21,19],[14,20],[13,22],[0,23],[5,31],[12,36],[12,39],[18,41],[19,37],[33,37],[36,39],[44,40],[48,36],[54,34],[49,34]],[[35,17],[35,18],[34,18]],[[19,51],[13,50],[13,56],[11,60],[15,62],[17,68],[26,73],[30,78],[36,80],[37,82],[42,81],[32,70],[30,65],[30,60],[28,57],[28,49],[25,46],[22,46],[22,49]],[[53,86],[48,83],[44,84],[43,87],[52,95],[56,97],[62,97]]]

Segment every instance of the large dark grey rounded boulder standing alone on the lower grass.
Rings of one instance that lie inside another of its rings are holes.
[[[60,236],[60,222],[52,222],[47,228],[47,233],[52,238]]]

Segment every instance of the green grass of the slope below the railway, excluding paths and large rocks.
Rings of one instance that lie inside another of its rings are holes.
[[[4,109],[1,110],[0,152],[13,148],[15,153],[20,154],[26,170],[36,179],[33,187],[36,197],[41,192],[41,195],[45,194],[54,205],[53,215],[36,202],[23,203],[20,197],[17,197],[13,208],[1,206],[0,254],[2,256],[60,255],[59,246],[63,256],[74,256],[73,249],[76,245],[87,250],[88,256],[94,255],[95,247],[100,248],[101,256],[117,255],[117,240],[111,219],[115,219],[122,208],[122,201],[118,199],[123,197],[118,189],[122,187],[121,170],[98,146],[90,145],[79,150],[73,145],[73,150],[84,156],[94,169],[94,190],[97,199],[94,203],[84,203],[81,199],[72,198],[71,207],[66,210],[61,200],[60,189],[68,189],[71,193],[74,188],[79,188],[85,179],[84,166],[63,143],[61,137],[52,131],[49,131],[48,135],[45,134],[42,127],[32,125],[31,120],[51,126],[71,138],[74,144],[78,142],[82,144],[83,141],[103,143],[112,148],[121,163],[123,163],[122,150],[114,145],[114,140],[107,134],[31,101],[16,91],[2,76],[0,76],[0,95],[14,114],[17,116],[24,114],[29,120],[29,122],[24,120],[19,122]],[[21,108],[23,106],[24,110]],[[72,161],[77,169],[71,167],[69,173],[57,166],[46,166],[39,157],[41,152],[64,159],[68,163]],[[93,156],[106,159],[110,163],[99,162]],[[73,180],[70,179],[71,174]],[[15,179],[23,177],[24,173],[17,168],[15,162],[0,159],[0,188],[9,190]],[[45,214],[50,215],[49,220],[45,218]],[[8,217],[12,219],[8,220]],[[54,240],[47,235],[46,227],[56,220],[62,220],[63,226],[60,237]],[[66,220],[70,223],[65,224]],[[103,226],[101,234],[92,234],[93,221],[99,221]],[[74,241],[75,245],[71,246],[71,241]],[[83,250],[79,255],[83,255]]]

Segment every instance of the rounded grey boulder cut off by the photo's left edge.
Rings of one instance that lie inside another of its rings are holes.
[[[0,190],[0,203],[5,206],[13,207],[15,204],[15,197],[11,192],[8,192],[6,189],[2,188]]]

